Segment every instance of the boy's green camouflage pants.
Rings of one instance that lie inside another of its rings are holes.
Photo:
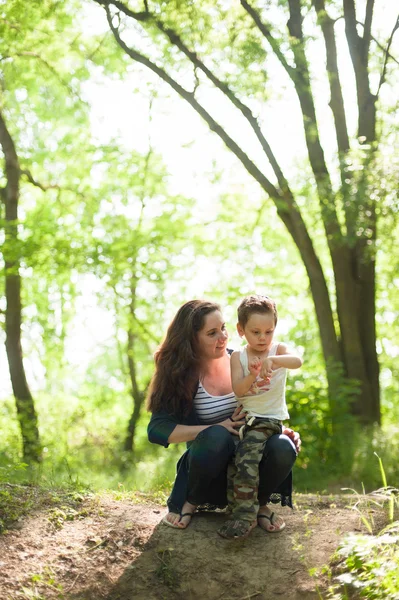
[[[259,463],[269,437],[281,431],[281,423],[276,419],[256,418],[252,425],[246,425],[235,459],[227,468],[227,500],[234,519],[251,522],[256,519]]]

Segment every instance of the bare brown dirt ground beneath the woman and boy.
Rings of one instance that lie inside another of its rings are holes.
[[[1,600],[316,599],[341,536],[362,530],[343,496],[308,496],[278,508],[287,527],[255,528],[245,540],[219,537],[222,512],[166,527],[162,506],[84,498],[75,508],[42,507],[0,536]]]

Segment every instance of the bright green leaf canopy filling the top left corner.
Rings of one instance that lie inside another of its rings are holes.
[[[45,140],[53,152],[67,144],[67,128],[85,118],[79,93],[88,72],[76,37],[78,6],[12,0],[2,7],[3,108],[23,160],[32,159],[33,148],[47,154]]]

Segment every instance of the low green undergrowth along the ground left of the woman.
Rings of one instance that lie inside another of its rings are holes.
[[[184,445],[166,451],[147,441],[148,416],[143,414],[136,431],[134,454],[123,451],[131,412],[128,393],[86,385],[86,396],[37,395],[43,461],[37,467],[19,466],[20,440],[16,423],[0,422],[0,477],[18,485],[33,483],[45,489],[126,490],[156,492],[165,500]],[[7,403],[10,409],[13,403]],[[11,410],[12,413],[12,410]],[[10,424],[14,429],[9,433]],[[4,445],[3,445],[4,444]]]

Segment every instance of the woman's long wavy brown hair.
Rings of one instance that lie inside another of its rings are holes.
[[[155,373],[147,396],[150,412],[187,415],[199,378],[198,332],[206,315],[220,306],[206,300],[190,300],[179,308],[166,337],[155,353]]]

